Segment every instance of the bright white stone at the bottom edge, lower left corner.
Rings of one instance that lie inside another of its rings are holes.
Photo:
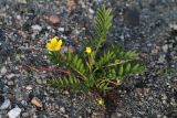
[[[9,118],[18,118],[20,116],[21,109],[15,107],[8,112]]]

